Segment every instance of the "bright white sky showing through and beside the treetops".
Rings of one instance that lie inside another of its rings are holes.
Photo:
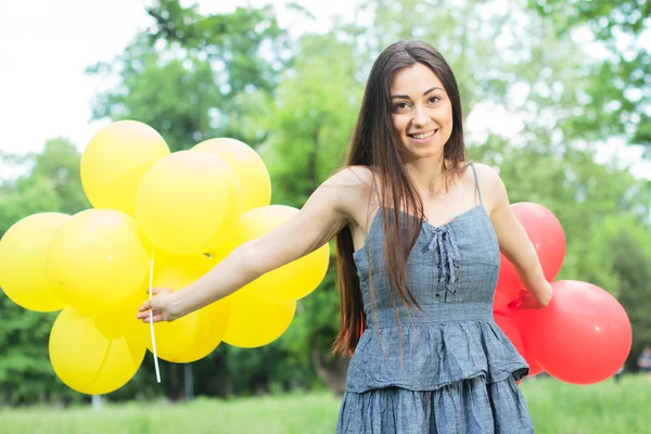
[[[151,25],[144,11],[148,0],[0,0],[0,151],[14,154],[38,152],[46,140],[71,139],[82,151],[91,137],[108,120],[91,122],[91,100],[107,85],[85,71],[100,61],[110,61],[129,44],[133,36]],[[267,0],[200,0],[200,12],[224,13],[237,5],[259,7]],[[188,3],[188,2],[187,2]],[[305,2],[302,2],[305,3]],[[281,26],[292,33],[327,30],[331,16],[350,17],[358,0],[314,1],[309,11],[316,22],[295,20],[279,7]],[[482,116],[486,125],[495,119]],[[511,124],[512,126],[512,124]],[[482,125],[474,125],[482,129]],[[509,128],[508,124],[503,125]],[[603,146],[600,159],[624,155],[639,161],[640,152],[622,143]],[[651,174],[638,164],[634,174]],[[0,166],[0,179],[12,168]]]

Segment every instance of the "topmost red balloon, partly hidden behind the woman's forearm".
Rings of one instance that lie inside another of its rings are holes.
[[[565,259],[565,232],[561,222],[552,212],[533,202],[513,204],[511,209],[536,248],[545,278],[551,282]]]

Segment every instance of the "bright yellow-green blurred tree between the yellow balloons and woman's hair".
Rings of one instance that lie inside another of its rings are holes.
[[[341,167],[362,88],[355,79],[355,52],[333,35],[302,39],[271,110],[261,150],[273,202],[301,207]]]

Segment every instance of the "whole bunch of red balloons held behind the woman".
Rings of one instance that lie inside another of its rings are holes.
[[[513,265],[502,255],[494,299],[500,329],[529,365],[529,376],[546,371],[573,384],[592,384],[613,375],[630,352],[633,331],[622,305],[591,283],[553,281],[565,257],[565,234],[558,218],[531,202],[511,206],[551,282],[553,296],[541,309],[521,309],[525,291]]]

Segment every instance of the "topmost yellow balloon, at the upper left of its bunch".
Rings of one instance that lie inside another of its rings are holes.
[[[161,135],[137,120],[118,120],[98,131],[81,155],[81,183],[95,208],[136,217],[136,193],[150,167],[169,148]]]

